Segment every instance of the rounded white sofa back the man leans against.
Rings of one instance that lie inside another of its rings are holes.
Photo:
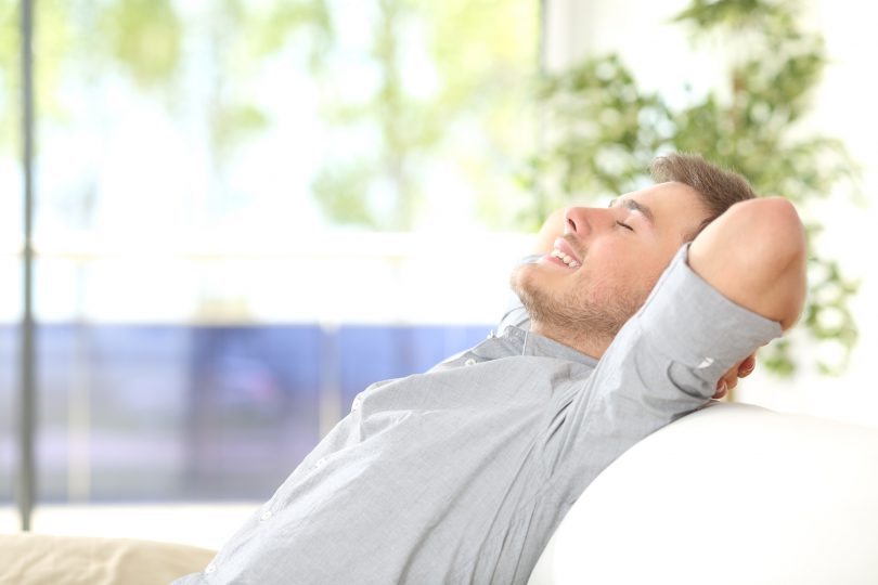
[[[878,584],[878,429],[714,403],[589,486],[529,585]]]

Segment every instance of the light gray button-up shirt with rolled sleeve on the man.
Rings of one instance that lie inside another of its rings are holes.
[[[426,374],[372,385],[177,583],[526,583],[604,468],[780,334],[698,277],[687,249],[599,361],[506,324]]]

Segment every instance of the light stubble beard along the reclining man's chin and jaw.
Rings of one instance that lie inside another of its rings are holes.
[[[525,264],[509,280],[530,314],[531,329],[592,355],[595,348],[603,353],[646,300],[643,291],[606,281],[591,281],[582,289],[553,295],[538,285],[538,278]]]

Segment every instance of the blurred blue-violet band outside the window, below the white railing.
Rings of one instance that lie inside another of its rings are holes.
[[[424,372],[489,330],[43,325],[39,499],[266,498],[317,444],[322,393],[340,396],[340,419],[370,384]],[[10,407],[16,366],[17,328],[0,327],[0,404]],[[5,474],[13,429],[0,432],[0,453]],[[0,499],[11,484],[0,483]]]

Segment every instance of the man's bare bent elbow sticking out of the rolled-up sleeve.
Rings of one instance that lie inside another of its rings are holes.
[[[695,238],[688,263],[727,299],[786,330],[804,303],[805,250],[796,208],[770,197],[732,206]]]

